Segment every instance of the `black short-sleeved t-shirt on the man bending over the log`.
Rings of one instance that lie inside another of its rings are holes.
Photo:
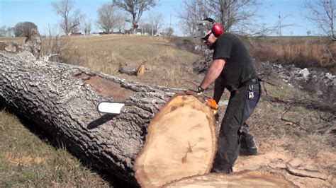
[[[223,33],[213,44],[213,49],[213,59],[227,59],[220,76],[228,90],[237,90],[243,83],[257,78],[252,58],[236,35]]]

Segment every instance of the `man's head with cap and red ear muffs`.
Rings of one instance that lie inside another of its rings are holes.
[[[215,23],[212,18],[198,21],[197,28],[198,33],[195,37],[201,38],[208,48],[212,48],[215,40],[223,33],[222,25]]]

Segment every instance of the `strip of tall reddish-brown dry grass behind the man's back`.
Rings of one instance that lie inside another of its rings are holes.
[[[323,37],[266,37],[250,40],[257,61],[295,64],[300,68],[322,67],[335,71],[336,43]]]

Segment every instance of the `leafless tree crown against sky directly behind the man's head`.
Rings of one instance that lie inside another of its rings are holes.
[[[241,35],[274,33],[279,27],[277,23],[269,27],[255,24],[259,6],[257,0],[184,0],[185,11],[179,15],[180,27],[185,34],[194,35],[197,20],[211,17],[223,25],[225,32]]]

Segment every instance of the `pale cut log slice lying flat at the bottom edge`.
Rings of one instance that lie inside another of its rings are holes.
[[[164,187],[296,187],[293,182],[271,172],[243,171],[227,174],[207,174],[184,177]]]

